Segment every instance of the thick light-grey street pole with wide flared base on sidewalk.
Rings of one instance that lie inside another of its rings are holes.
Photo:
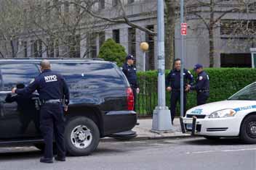
[[[170,111],[165,102],[165,68],[164,68],[164,0],[157,1],[157,46],[158,46],[158,106],[153,111],[153,132],[172,129]]]

